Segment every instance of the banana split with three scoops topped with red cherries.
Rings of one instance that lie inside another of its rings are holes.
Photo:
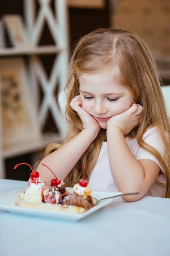
[[[21,164],[16,165],[14,169]],[[46,166],[43,163],[42,165]],[[48,166],[46,167],[53,173]],[[86,180],[80,180],[73,186],[73,191],[68,191],[65,183],[58,180],[54,173],[55,179],[51,180],[50,186],[46,186],[39,173],[33,171],[31,166],[30,168],[32,172],[28,181],[29,187],[19,194],[19,198],[15,199],[15,205],[33,209],[82,213],[97,204],[97,200],[91,196],[92,191]]]

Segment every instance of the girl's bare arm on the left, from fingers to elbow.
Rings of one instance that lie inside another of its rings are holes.
[[[71,107],[81,118],[83,130],[71,141],[64,144],[50,155],[44,157],[42,160],[42,163],[49,166],[60,180],[64,180],[67,177],[68,173],[72,170],[100,131],[100,126],[97,121],[82,108],[79,96],[71,101]],[[53,174],[49,172],[45,166],[42,166],[40,163],[37,171],[46,182],[46,185],[51,183],[51,179],[54,178]]]

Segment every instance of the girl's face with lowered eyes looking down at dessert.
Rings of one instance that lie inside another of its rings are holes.
[[[120,72],[117,67],[100,74],[82,73],[79,75],[82,107],[97,120],[103,129],[107,128],[106,123],[110,117],[132,106],[132,96],[120,81]]]

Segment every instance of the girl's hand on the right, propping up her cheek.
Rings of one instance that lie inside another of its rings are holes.
[[[124,135],[126,135],[140,123],[142,111],[143,107],[134,103],[124,112],[111,117],[107,121],[107,128],[110,124],[118,126],[123,130]]]

